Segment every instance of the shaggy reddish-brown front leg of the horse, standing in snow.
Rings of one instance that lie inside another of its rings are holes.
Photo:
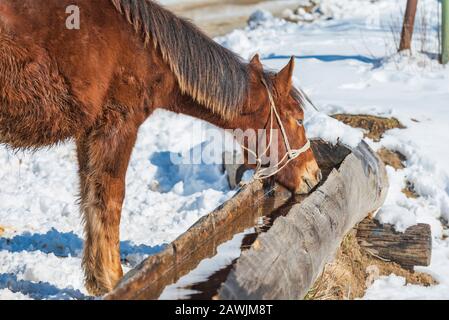
[[[77,141],[85,223],[82,264],[86,288],[96,296],[111,291],[123,276],[119,228],[136,131],[103,127]]]

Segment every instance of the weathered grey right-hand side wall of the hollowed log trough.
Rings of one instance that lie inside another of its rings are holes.
[[[302,299],[343,237],[384,203],[383,163],[362,142],[338,169],[242,253],[220,299]]]

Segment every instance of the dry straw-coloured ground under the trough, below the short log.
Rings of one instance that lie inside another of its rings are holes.
[[[407,284],[430,286],[436,281],[428,274],[406,270],[396,263],[382,261],[364,250],[351,232],[306,296],[307,300],[346,300],[362,298],[366,289],[380,276],[404,277]]]

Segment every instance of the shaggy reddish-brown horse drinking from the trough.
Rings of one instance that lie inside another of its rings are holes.
[[[78,29],[67,28],[69,5],[80,9]],[[244,63],[150,0],[0,0],[0,143],[76,141],[90,293],[122,277],[120,214],[139,126],[165,108],[222,128],[266,128],[271,97],[285,128],[283,155],[285,138],[291,148],[307,142],[293,68],[292,60],[266,72],[257,56]],[[276,179],[309,192],[320,179],[312,151]]]

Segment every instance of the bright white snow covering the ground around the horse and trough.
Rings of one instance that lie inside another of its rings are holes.
[[[365,298],[449,299],[449,232],[444,222],[449,219],[449,69],[427,54],[393,54],[391,27],[398,25],[405,2],[322,0],[324,15],[312,24],[260,14],[250,27],[217,41],[244,58],[258,52],[273,69],[291,55],[297,57],[297,84],[320,109],[307,109],[310,137],[357,144],[360,130],[327,116],[337,112],[394,116],[407,127],[387,132],[379,143],[369,141],[374,149],[385,146],[407,157],[406,169],[388,168],[391,189],[378,217],[398,230],[419,222],[432,226],[432,263],[416,269],[439,284],[405,285],[403,278],[391,275],[377,280]],[[431,39],[436,37],[438,2],[419,3],[420,13],[428,17],[425,49],[436,52]],[[417,47],[423,34],[416,33]],[[197,123],[157,112],[140,132],[121,226],[126,268],[160,251],[233,194],[220,166],[175,166],[168,161],[171,153],[205,142],[205,136],[192,130]],[[0,149],[0,179],[0,226],[5,227],[0,234],[0,299],[85,298],[73,145],[33,154]],[[414,184],[419,198],[401,192],[406,181]]]

